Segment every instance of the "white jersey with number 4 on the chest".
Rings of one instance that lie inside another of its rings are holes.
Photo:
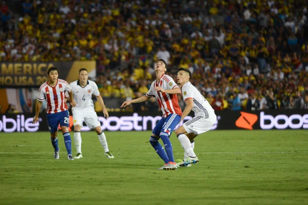
[[[94,110],[94,104],[92,101],[92,94],[95,96],[100,95],[99,88],[94,81],[87,80],[87,85],[81,87],[79,80],[73,81],[70,84],[76,106],[73,110]]]

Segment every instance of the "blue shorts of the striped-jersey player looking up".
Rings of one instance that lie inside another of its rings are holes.
[[[160,136],[161,133],[166,133],[170,137],[172,131],[176,128],[181,120],[181,116],[178,114],[170,114],[166,118],[161,118],[158,124],[153,129],[153,134]]]

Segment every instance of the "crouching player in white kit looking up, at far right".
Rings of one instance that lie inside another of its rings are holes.
[[[180,68],[177,74],[177,81],[182,89],[183,99],[186,103],[181,121],[191,110],[195,113],[194,118],[186,121],[176,130],[178,139],[185,150],[184,160],[178,164],[181,167],[190,166],[191,163],[199,162],[194,152],[194,138],[209,131],[217,119],[214,109],[209,105],[208,101],[197,88],[189,82],[190,75],[190,71],[184,68]]]

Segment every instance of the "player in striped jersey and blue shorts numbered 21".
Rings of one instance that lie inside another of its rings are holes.
[[[69,113],[65,103],[65,91],[73,99],[73,93],[67,81],[58,79],[59,72],[57,68],[50,67],[47,71],[48,81],[45,82],[38,90],[37,104],[33,124],[38,122],[38,114],[40,113],[42,102],[47,101],[47,122],[48,129],[51,133],[51,144],[54,148],[53,158],[59,159],[59,146],[57,140],[57,130],[59,124],[61,126],[64,137],[65,147],[67,150],[67,158],[74,160],[71,149],[71,137],[68,132],[69,127]],[[71,101],[71,106],[76,105],[75,101]]]

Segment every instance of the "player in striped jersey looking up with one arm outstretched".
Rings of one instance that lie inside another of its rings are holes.
[[[125,101],[121,105],[121,108],[126,107],[131,103],[144,102],[149,100],[151,97],[157,98],[158,104],[163,112],[163,117],[153,129],[149,141],[157,154],[165,162],[165,165],[159,169],[177,170],[169,137],[181,119],[182,111],[177,97],[177,94],[181,93],[181,90],[170,76],[165,75],[166,70],[165,60],[159,59],[155,64],[156,80],[151,84],[149,91],[137,99]],[[166,151],[163,150],[164,148],[158,142],[160,138],[165,145]]]

